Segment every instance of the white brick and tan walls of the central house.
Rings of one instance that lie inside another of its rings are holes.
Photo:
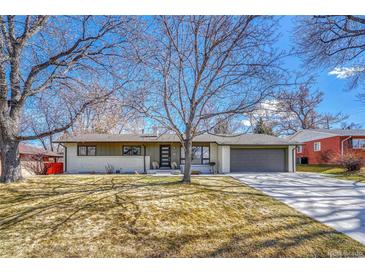
[[[105,172],[105,166],[107,164],[112,165],[115,170],[123,172],[143,172],[143,146],[145,146],[145,163],[146,170],[152,168],[152,162],[160,162],[160,145],[169,144],[171,146],[171,162],[176,162],[180,166],[180,151],[181,145],[179,143],[88,143],[87,145],[96,146],[97,156],[78,156],[77,144],[66,144],[67,156],[65,172],[68,173],[83,173],[83,172]],[[142,156],[122,156],[123,145],[140,145],[142,147]],[[230,172],[230,146],[229,145],[217,145],[216,143],[194,143],[193,145],[209,145],[210,148],[210,162],[215,162],[215,172],[229,173]],[[235,146],[236,147],[236,146]],[[247,147],[247,146],[237,146]],[[267,146],[269,148],[269,146]],[[257,146],[257,148],[265,148],[264,146]],[[295,159],[294,146],[283,147],[286,148],[286,163],[288,171],[295,171]],[[181,166],[180,166],[181,167]],[[67,169],[67,170],[66,170]],[[183,169],[183,168],[182,168]],[[202,173],[211,172],[209,165],[194,165],[193,170],[199,170]]]

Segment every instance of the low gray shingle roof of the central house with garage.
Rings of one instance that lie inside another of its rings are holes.
[[[203,134],[197,136],[194,142],[215,142],[222,145],[289,145],[297,144],[284,138],[264,134],[242,134],[242,135],[212,135]],[[148,136],[138,134],[82,134],[64,136],[55,143],[83,143],[83,142],[179,142],[175,134],[163,134],[159,136]]]

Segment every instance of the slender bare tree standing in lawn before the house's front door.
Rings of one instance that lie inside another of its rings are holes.
[[[258,16],[155,18],[138,50],[148,87],[133,107],[178,136],[191,181],[192,141],[252,111],[278,85],[276,24]],[[143,51],[144,50],[144,51]],[[145,102],[141,104],[139,102]]]

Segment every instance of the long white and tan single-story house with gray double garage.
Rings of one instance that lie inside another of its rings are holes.
[[[151,173],[158,169],[183,171],[185,155],[174,134],[66,135],[65,173]],[[192,170],[201,173],[294,172],[297,143],[262,134],[193,139]]]

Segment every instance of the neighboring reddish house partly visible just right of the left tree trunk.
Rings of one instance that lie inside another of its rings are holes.
[[[30,176],[33,175],[30,166],[32,162],[38,161],[39,157],[42,158],[44,163],[56,163],[62,161],[62,153],[45,150],[40,147],[31,146],[28,144],[19,144],[19,157],[20,164],[22,166],[22,175]],[[1,155],[0,155],[0,173],[1,173]]]

